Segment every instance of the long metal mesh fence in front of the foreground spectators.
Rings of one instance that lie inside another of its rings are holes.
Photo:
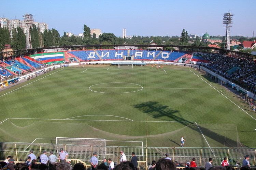
[[[98,153],[98,159],[111,158],[119,163],[120,151],[124,151],[127,160],[131,160],[131,153],[135,152],[138,160],[146,161],[149,165],[152,160],[164,158],[166,153],[169,157],[181,165],[196,158],[198,166],[204,166],[208,159],[213,158],[213,165],[220,165],[224,157],[227,157],[231,166],[241,166],[245,155],[250,156],[250,164],[255,166],[256,148],[159,148],[159,147],[128,147],[128,146],[88,146],[88,145],[64,145],[54,143],[19,143],[0,142],[0,160],[4,160],[8,155],[17,161],[27,160],[30,150],[40,156],[42,151],[53,151],[58,156],[57,148],[63,148],[69,153],[69,158],[80,159],[89,164],[89,159],[93,152]]]

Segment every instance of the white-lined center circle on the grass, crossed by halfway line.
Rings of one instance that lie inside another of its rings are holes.
[[[97,93],[132,93],[142,90],[143,87],[135,83],[109,82],[94,84],[89,87],[90,91]]]

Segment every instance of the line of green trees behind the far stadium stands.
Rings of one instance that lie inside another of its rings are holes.
[[[12,36],[11,36],[12,33]],[[66,32],[60,36],[56,29],[48,29],[43,33],[40,29],[33,25],[30,28],[32,48],[38,47],[50,47],[50,46],[72,46],[72,45],[87,45],[87,44],[102,44],[102,45],[114,45],[114,44],[150,44],[152,42],[162,45],[183,45],[183,46],[201,46],[207,47],[208,44],[201,42],[200,37],[189,38],[188,33],[185,29],[181,32],[181,37],[179,36],[132,36],[131,38],[116,37],[113,33],[102,33],[99,38],[96,38],[96,34],[91,37],[90,28],[84,25],[84,37],[80,36],[67,36]],[[215,36],[211,36],[215,37]],[[224,37],[218,37],[225,40]],[[234,36],[231,38],[236,38],[238,40],[247,40],[243,36]],[[18,27],[17,29],[12,29],[10,32],[6,28],[0,28],[0,49],[4,48],[4,44],[11,44],[14,50],[25,49],[26,48],[26,35],[23,29]],[[224,48],[224,43],[217,44],[221,48]],[[167,50],[172,50],[173,48],[168,48]],[[187,50],[187,49],[181,49]],[[205,51],[205,50],[202,50]],[[205,51],[206,52],[206,51]]]

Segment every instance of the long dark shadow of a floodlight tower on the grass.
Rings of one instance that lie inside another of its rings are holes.
[[[195,124],[195,122],[190,122],[182,118],[181,116],[177,116],[175,113],[179,113],[179,110],[171,109],[168,106],[161,105],[159,102],[149,101],[149,102],[144,102],[144,103],[134,105],[133,107],[141,110],[144,113],[147,113],[148,115],[150,115],[152,118],[155,118],[155,119],[161,119],[165,121],[170,121],[170,119],[172,119],[173,121],[179,122],[184,126],[187,126],[189,124]],[[167,117],[168,119],[165,119],[165,117]],[[202,127],[200,125],[198,125],[198,127],[197,126],[188,126],[188,127],[191,128],[192,130],[195,130],[198,133],[201,133],[200,132],[201,130],[204,136],[207,136],[212,140],[215,140],[223,144],[223,146],[230,147],[230,148],[244,147],[244,145],[242,145],[240,142],[234,141],[228,137],[217,134],[212,130]]]

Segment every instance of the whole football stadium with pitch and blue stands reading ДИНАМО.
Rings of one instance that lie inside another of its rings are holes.
[[[41,47],[1,62],[1,159],[64,148],[87,167],[93,152],[118,163],[122,150],[142,168],[166,153],[184,166],[228,157],[239,167],[247,154],[255,165],[255,56],[122,46]],[[69,50],[39,52],[51,48]]]

